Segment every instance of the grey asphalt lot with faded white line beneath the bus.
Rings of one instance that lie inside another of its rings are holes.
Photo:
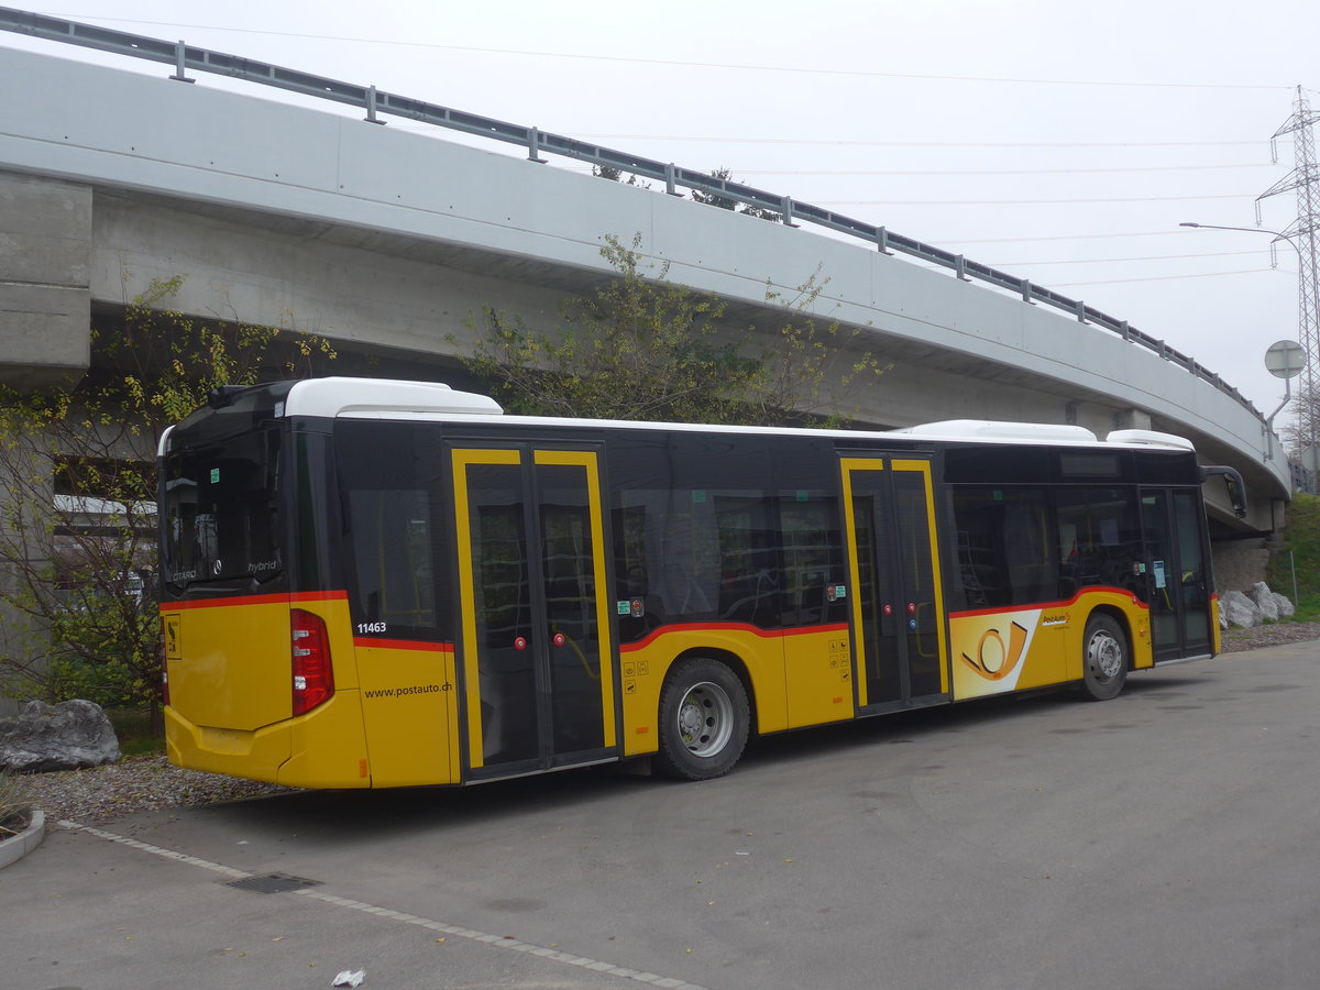
[[[1316,987],[1320,644],[561,774],[55,829],[0,986]],[[315,882],[263,894],[228,883]]]

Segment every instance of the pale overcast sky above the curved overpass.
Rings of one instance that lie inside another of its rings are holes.
[[[1251,227],[1255,198],[1294,168],[1291,137],[1279,140],[1275,164],[1270,136],[1294,112],[1299,84],[1320,108],[1309,88],[1320,88],[1315,0],[77,0],[38,9],[682,166],[727,166],[750,185],[1082,298],[1220,372],[1263,413],[1283,395],[1262,358],[1274,341],[1298,338],[1292,248],[1279,244],[1271,269],[1266,234],[1177,224]],[[0,46],[168,73],[11,33]],[[232,86],[207,75],[197,84]],[[1291,193],[1262,203],[1266,227],[1295,216]]]

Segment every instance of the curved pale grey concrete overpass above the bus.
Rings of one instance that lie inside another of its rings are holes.
[[[792,296],[813,273],[828,279],[816,312],[862,329],[866,347],[894,362],[879,388],[850,400],[865,421],[1177,433],[1246,479],[1245,523],[1208,491],[1220,536],[1282,521],[1280,445],[1217,376],[1080,304],[1061,312],[1071,301],[1048,290],[1019,282],[1010,294],[1007,276],[983,275],[1003,275],[993,269],[954,259],[945,273],[891,256],[883,228],[869,228],[871,244],[822,236],[444,132],[49,54],[0,49],[0,91],[22,95],[0,104],[5,380],[86,370],[91,313],[177,275],[187,276],[176,301],[187,313],[293,322],[348,359],[444,378],[483,305],[553,314],[610,275],[607,235],[640,234],[672,281],[727,300],[741,323],[783,317],[767,286]],[[813,207],[780,202],[812,219]]]

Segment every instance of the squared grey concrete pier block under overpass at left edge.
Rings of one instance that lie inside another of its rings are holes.
[[[87,371],[91,186],[0,172],[0,383]]]

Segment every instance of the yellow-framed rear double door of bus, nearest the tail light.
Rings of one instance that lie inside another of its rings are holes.
[[[597,450],[451,449],[466,776],[616,751]]]

